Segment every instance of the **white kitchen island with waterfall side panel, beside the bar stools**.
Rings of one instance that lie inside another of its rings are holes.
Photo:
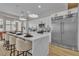
[[[30,32],[33,37],[24,37],[23,35],[16,35],[12,33],[7,33],[8,35],[15,36],[16,38],[21,38],[25,41],[32,42],[32,56],[47,56],[49,52],[49,33],[45,32],[43,34]]]

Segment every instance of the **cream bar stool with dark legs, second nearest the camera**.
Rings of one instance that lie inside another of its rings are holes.
[[[14,36],[9,36],[9,46],[11,47],[11,52],[10,52],[10,56],[15,55],[15,45],[16,45],[16,37]]]

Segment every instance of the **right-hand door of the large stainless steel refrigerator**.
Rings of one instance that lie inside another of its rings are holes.
[[[75,33],[76,33],[76,23],[75,17],[66,19],[63,22],[62,27],[62,43],[68,47],[74,47],[75,45]],[[76,33],[77,34],[77,33]]]

